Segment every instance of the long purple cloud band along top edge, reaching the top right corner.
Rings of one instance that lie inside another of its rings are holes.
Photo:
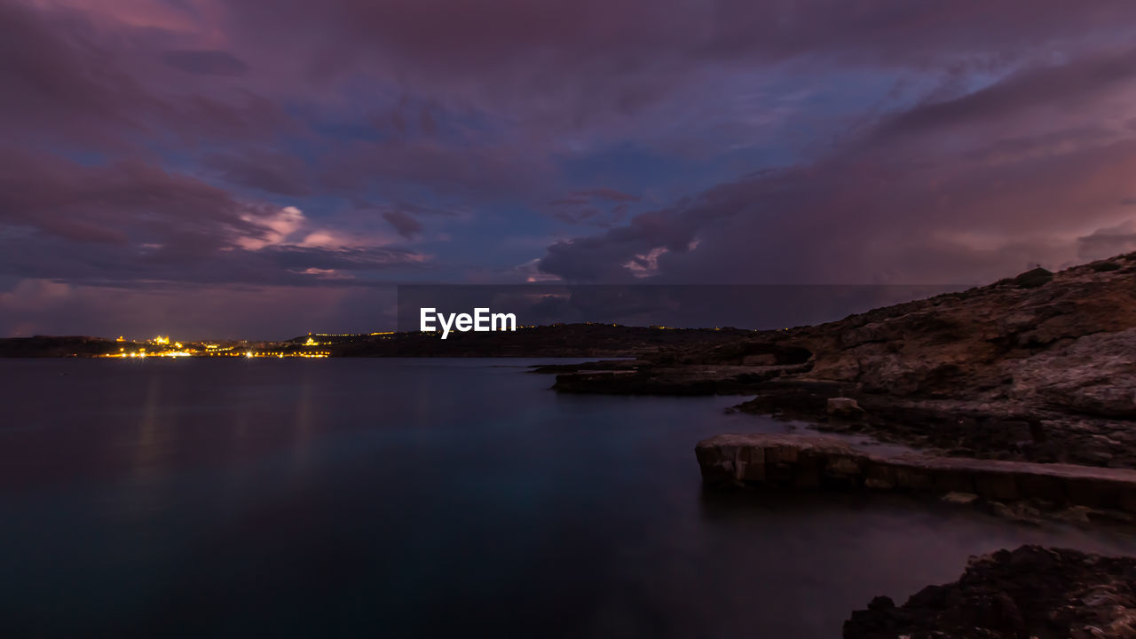
[[[696,91],[708,68],[818,64],[988,70],[1117,38],[1136,8],[1124,0],[1071,8],[869,5],[838,0],[285,0],[231,6],[242,38],[306,55],[309,78],[367,66],[423,96],[484,103],[541,125],[580,127],[633,116]],[[318,25],[318,28],[312,28]],[[285,35],[286,34],[286,35]],[[470,82],[470,78],[476,82]],[[702,98],[712,100],[713,96]]]

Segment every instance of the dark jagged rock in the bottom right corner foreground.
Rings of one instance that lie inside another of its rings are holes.
[[[845,639],[1131,639],[1136,558],[1022,546],[972,557],[954,583],[903,606],[876,597],[844,622]]]

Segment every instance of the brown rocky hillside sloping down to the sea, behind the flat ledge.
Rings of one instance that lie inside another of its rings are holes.
[[[553,388],[746,393],[741,410],[939,455],[1136,468],[1136,254],[623,366]]]

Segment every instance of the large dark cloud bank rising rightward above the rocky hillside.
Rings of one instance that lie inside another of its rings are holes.
[[[918,105],[815,163],[554,243],[541,269],[580,282],[967,283],[1067,265],[1089,246],[1119,251],[1126,233],[1077,238],[1121,215],[1130,192],[1136,138],[1122,131],[1122,105],[1131,94],[1118,82],[1130,59],[1029,69]]]

